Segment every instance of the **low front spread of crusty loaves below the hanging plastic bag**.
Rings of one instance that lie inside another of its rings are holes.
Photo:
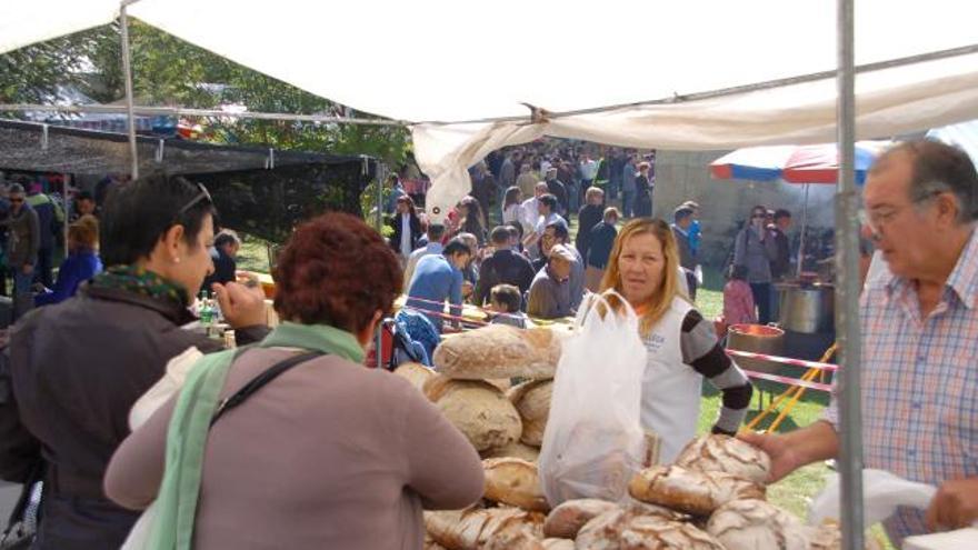
[[[770,461],[726,436],[689,443],[676,463],[637,473],[622,502],[550,509],[533,463],[483,460],[486,491],[466,510],[425,512],[427,550],[835,550],[835,524],[808,527],[765,500]],[[868,548],[876,548],[871,543]]]

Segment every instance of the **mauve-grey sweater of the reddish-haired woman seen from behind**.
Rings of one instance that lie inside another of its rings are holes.
[[[288,357],[256,349],[230,370],[221,399]],[[163,474],[173,401],[112,457],[106,493],[146,508]],[[213,426],[193,548],[420,550],[426,509],[481,498],[476,450],[406,379],[337,357],[300,364]]]

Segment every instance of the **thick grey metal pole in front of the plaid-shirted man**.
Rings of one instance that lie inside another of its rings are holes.
[[[838,384],[840,436],[839,472],[842,548],[864,548],[862,411],[859,333],[859,227],[856,194],[856,78],[854,66],[855,0],[837,0],[838,17],[838,147],[839,186],[836,192],[836,327],[841,351]]]

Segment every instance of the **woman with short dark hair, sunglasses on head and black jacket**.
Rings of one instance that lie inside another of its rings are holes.
[[[181,327],[192,293],[212,269],[214,209],[203,186],[152,174],[116,187],[101,218],[104,272],[61,303],[23,319],[10,338],[17,423],[0,430],[0,476],[23,482],[47,468],[33,548],[119,548],[138,514],[109,501],[102,478],[129,434],[133,403],[167,363],[219,341]],[[237,341],[261,339],[259,289],[214,286]],[[12,448],[19,441],[19,448]],[[12,457],[17,457],[13,460]]]

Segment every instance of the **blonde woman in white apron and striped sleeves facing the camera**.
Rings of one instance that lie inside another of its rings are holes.
[[[703,377],[723,394],[713,433],[737,432],[752,393],[750,381],[723,352],[712,323],[680,292],[678,266],[669,226],[636,219],[618,233],[601,281],[601,290],[618,291],[641,318],[647,350],[641,421],[660,438],[660,463],[672,462],[696,437]]]

